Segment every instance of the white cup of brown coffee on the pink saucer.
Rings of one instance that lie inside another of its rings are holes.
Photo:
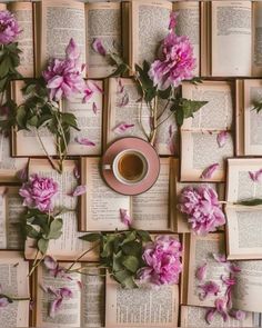
[[[125,149],[119,152],[111,165],[103,165],[103,170],[112,170],[117,180],[124,185],[137,185],[148,175],[149,162],[142,152]]]

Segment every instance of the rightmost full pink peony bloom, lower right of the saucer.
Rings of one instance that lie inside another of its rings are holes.
[[[216,227],[225,223],[218,195],[209,186],[185,187],[181,192],[179,209],[188,215],[196,235],[215,231]]]

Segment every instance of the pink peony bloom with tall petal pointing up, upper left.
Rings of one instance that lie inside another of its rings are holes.
[[[82,78],[83,66],[79,63],[80,52],[73,39],[70,40],[66,53],[66,59],[52,59],[42,72],[50,90],[50,100],[59,101],[63,97],[69,99],[85,89]]]

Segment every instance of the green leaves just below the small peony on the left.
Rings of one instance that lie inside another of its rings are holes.
[[[57,216],[41,212],[39,209],[28,209],[24,220],[26,237],[36,239],[37,248],[42,255],[47,254],[49,241],[62,235],[63,221]]]

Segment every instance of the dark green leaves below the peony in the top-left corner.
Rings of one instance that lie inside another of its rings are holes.
[[[7,90],[11,80],[21,78],[17,71],[20,64],[19,53],[21,50],[17,42],[0,46],[0,92]]]

